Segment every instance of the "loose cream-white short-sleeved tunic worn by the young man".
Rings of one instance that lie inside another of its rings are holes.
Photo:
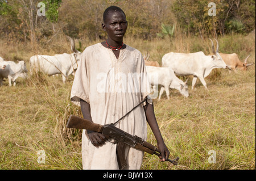
[[[113,51],[101,43],[87,47],[75,74],[71,101],[80,106],[80,98],[90,104],[94,123],[114,123],[150,94],[146,69],[141,52],[128,45],[117,59]],[[137,107],[116,127],[147,137],[147,123],[143,105]],[[126,149],[126,169],[140,169],[143,151]],[[116,145],[106,142],[96,148],[82,132],[83,169],[118,169]]]

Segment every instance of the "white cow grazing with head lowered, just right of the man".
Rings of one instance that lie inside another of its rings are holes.
[[[171,89],[179,90],[180,94],[184,95],[186,98],[188,97],[187,81],[183,82],[179,78],[177,78],[172,69],[160,68],[156,66],[146,66],[146,71],[148,81],[152,86],[161,85],[158,100],[160,100],[164,90],[166,90],[167,98],[170,99],[169,87]]]

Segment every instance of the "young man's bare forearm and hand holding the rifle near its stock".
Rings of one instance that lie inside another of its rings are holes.
[[[80,99],[80,104],[81,104],[82,116],[84,116],[84,119],[87,119],[93,123],[92,116],[90,115],[90,104],[88,104],[82,99]],[[96,146],[96,147],[102,146],[107,140],[104,134],[93,132],[90,130],[86,130],[86,131],[87,131],[89,140],[90,142],[92,142],[93,146]]]

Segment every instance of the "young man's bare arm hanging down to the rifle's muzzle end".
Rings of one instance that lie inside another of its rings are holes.
[[[164,155],[164,157],[159,157],[160,161],[167,161],[170,151],[166,147],[166,144],[164,144],[162,134],[160,133],[160,129],[155,118],[153,105],[146,102],[146,105],[144,106],[144,111],[146,114],[147,123],[148,125],[150,125],[150,128],[155,135],[156,141],[158,142],[158,148],[160,150],[160,153],[161,155]]]

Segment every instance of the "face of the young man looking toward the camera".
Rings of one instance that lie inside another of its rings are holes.
[[[102,28],[108,33],[108,39],[113,41],[123,41],[123,36],[125,36],[127,30],[125,15],[118,11],[110,13],[104,24],[102,24]]]

